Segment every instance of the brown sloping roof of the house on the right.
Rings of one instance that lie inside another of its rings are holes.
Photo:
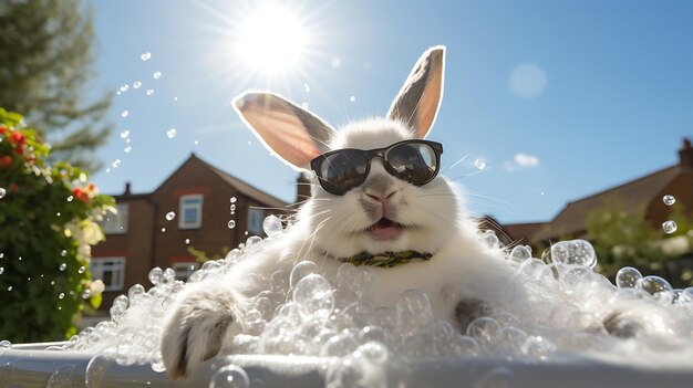
[[[580,200],[569,202],[554,220],[547,222],[531,235],[531,242],[539,242],[562,235],[585,232],[585,221],[591,211],[618,202],[623,211],[643,213],[647,207],[683,172],[681,165],[674,165],[623,185],[607,189]]]

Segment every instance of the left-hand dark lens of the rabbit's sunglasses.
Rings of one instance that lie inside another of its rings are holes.
[[[328,155],[320,166],[320,178],[333,193],[344,193],[361,185],[365,178],[366,160],[359,153],[344,149]]]

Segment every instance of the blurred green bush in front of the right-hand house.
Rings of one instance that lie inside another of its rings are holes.
[[[620,268],[652,268],[668,259],[659,242],[663,232],[652,228],[644,217],[621,210],[617,203],[587,216],[587,238],[597,252],[606,275]]]

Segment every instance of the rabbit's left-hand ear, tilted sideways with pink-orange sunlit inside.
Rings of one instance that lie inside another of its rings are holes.
[[[244,123],[265,146],[297,170],[330,148],[334,130],[318,116],[271,93],[245,93],[234,99]]]

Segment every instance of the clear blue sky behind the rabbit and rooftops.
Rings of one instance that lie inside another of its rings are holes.
[[[280,75],[237,53],[245,21],[263,4],[298,14],[308,34]],[[568,201],[675,164],[681,139],[693,137],[690,1],[118,0],[94,9],[91,87],[128,86],[99,153],[108,169],[92,177],[106,193],[125,181],[149,192],[194,151],[292,201],[296,172],[242,126],[231,98],[271,90],[334,126],[382,115],[436,44],[447,46],[447,69],[430,138],[444,144],[443,175],[464,187],[475,214],[549,220]]]

